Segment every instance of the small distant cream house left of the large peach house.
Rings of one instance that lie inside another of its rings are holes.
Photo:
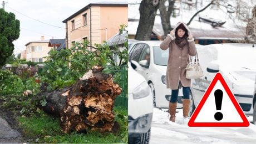
[[[52,47],[48,47],[49,40],[45,40],[44,36],[41,36],[41,40],[28,42],[26,46],[26,61],[33,62],[43,62],[46,58],[43,58],[48,55],[48,52]]]

